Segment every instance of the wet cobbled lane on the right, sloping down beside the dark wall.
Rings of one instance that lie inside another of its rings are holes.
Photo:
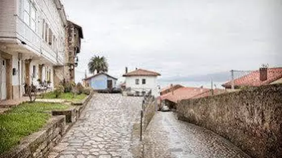
[[[250,158],[226,139],[158,112],[144,136],[144,158]]]

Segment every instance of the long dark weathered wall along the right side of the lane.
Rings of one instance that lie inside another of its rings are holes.
[[[182,100],[177,113],[253,158],[282,158],[282,84]]]

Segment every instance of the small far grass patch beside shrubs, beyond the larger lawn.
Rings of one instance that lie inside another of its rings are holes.
[[[79,94],[75,95],[73,93],[62,93],[58,98],[54,92],[48,92],[43,94],[43,99],[65,99],[67,101],[80,101],[84,99],[87,95],[86,94]]]

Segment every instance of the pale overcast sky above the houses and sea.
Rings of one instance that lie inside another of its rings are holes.
[[[83,27],[76,81],[103,55],[109,74],[129,67],[162,78],[282,66],[282,0],[63,0]]]

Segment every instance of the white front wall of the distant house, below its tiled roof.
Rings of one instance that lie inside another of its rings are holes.
[[[139,84],[135,83],[135,80],[139,79]],[[142,79],[146,79],[146,83],[142,84]],[[152,95],[158,96],[157,89],[157,77],[152,76],[137,76],[137,77],[126,77],[126,87],[131,87],[134,91],[146,91],[152,90]]]

